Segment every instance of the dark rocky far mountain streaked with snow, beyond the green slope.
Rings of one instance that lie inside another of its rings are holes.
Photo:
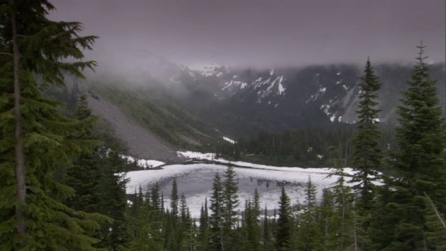
[[[430,68],[445,104],[445,64]],[[413,68],[409,64],[379,64],[375,70],[383,84],[380,121],[392,125],[397,121],[400,91],[406,89]],[[346,64],[269,70],[208,66],[202,70],[184,68],[169,81],[187,90],[180,95],[171,92],[176,102],[201,119],[232,134],[252,135],[259,130],[281,132],[355,123],[360,93],[357,83],[362,74],[362,66]]]

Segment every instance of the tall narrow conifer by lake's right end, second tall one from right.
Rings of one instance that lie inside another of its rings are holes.
[[[353,188],[359,193],[358,206],[364,211],[371,209],[374,196],[374,183],[378,178],[376,169],[383,166],[383,155],[381,153],[378,140],[381,132],[378,130],[378,93],[380,82],[371,66],[370,59],[364,69],[364,76],[361,77],[360,102],[356,113],[357,134],[353,138],[355,152],[353,153]]]

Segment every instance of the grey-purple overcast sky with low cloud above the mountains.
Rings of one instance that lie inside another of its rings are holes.
[[[84,23],[100,63],[151,54],[186,66],[445,61],[445,0],[53,0]]]

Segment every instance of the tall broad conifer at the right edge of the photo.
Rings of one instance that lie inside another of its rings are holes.
[[[381,206],[388,212],[385,221],[377,222],[376,248],[420,250],[424,247],[426,220],[424,193],[430,195],[440,213],[446,208],[445,124],[439,106],[436,81],[429,76],[420,45],[408,90],[403,91],[398,107],[399,126],[396,138],[399,149],[391,163],[396,178],[389,181],[387,200]]]

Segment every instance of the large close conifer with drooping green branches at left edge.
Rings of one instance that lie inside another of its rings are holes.
[[[62,204],[74,190],[53,174],[97,141],[73,140],[89,120],[73,120],[61,103],[42,95],[47,86],[63,86],[63,75],[83,77],[94,61],[80,61],[95,36],[79,36],[82,24],[47,19],[48,1],[3,1],[0,31],[0,239],[7,250],[93,250],[88,235],[106,218]],[[72,58],[66,61],[64,59]],[[79,60],[79,61],[77,61]],[[39,82],[36,77],[39,78]]]

